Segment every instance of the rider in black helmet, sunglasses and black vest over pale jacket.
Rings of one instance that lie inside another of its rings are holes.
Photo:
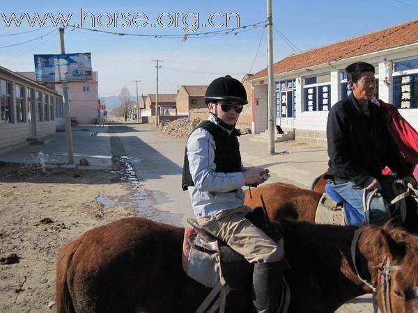
[[[274,312],[283,239],[273,241],[245,218],[250,208],[241,187],[270,177],[266,168],[242,167],[235,123],[248,103],[247,93],[237,79],[219,77],[208,86],[205,101],[210,116],[187,139],[183,190],[189,191],[199,225],[254,264],[256,312]]]

